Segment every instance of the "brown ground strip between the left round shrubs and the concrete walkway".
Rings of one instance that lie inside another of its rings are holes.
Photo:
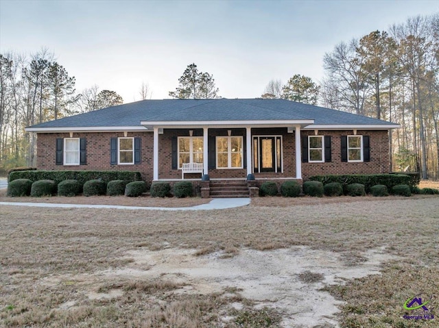
[[[141,197],[125,196],[75,196],[75,197],[7,197],[6,190],[0,190],[0,201],[19,203],[58,203],[58,204],[84,204],[84,205],[121,205],[121,206],[147,206],[147,207],[189,207],[209,203],[211,199],[200,197]]]

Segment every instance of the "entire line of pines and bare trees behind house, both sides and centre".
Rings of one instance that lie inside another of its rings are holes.
[[[390,132],[392,169],[439,175],[439,14],[408,18],[388,31],[340,42],[323,58],[319,84],[296,74],[272,79],[261,98],[320,104],[399,123]],[[147,99],[150,88],[139,94]],[[189,64],[169,91],[175,99],[215,99],[213,75]],[[35,136],[24,127],[123,103],[114,91],[75,92],[75,77],[47,51],[31,58],[0,55],[0,168],[35,163]]]

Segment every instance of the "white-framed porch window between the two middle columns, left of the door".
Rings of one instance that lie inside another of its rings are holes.
[[[239,137],[217,137],[217,168],[243,168],[243,139]]]

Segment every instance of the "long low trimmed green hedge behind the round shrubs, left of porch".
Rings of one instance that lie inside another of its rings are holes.
[[[141,180],[139,172],[130,171],[17,171],[9,175],[9,181],[15,179],[54,180],[59,184],[64,180],[78,180],[81,184],[86,181],[100,179],[108,184],[111,180],[137,181]]]

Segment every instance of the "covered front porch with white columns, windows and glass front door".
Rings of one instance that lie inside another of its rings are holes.
[[[308,123],[309,124],[309,123]],[[302,179],[300,129],[295,125],[154,125],[153,180]],[[201,172],[183,175],[187,163]]]

